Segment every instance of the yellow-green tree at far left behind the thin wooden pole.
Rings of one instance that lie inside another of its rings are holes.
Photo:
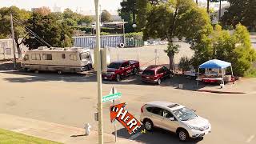
[[[21,58],[22,51],[20,49],[20,45],[22,42],[19,42],[18,39],[26,38],[26,30],[22,25],[26,24],[26,20],[30,18],[31,14],[30,12],[21,10],[16,6],[2,7],[0,9],[0,21],[2,21],[2,24],[0,25],[0,34],[2,37],[10,38],[10,14],[13,14],[14,18],[14,41],[16,42],[18,58]]]

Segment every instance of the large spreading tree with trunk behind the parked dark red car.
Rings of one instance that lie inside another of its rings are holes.
[[[179,46],[173,38],[186,38],[191,46],[200,42],[203,36],[210,34],[212,26],[210,18],[192,0],[169,0],[152,6],[146,15],[146,26],[143,29],[143,38],[167,39],[169,44],[166,53],[170,59],[170,68],[173,67],[174,54],[178,53]]]

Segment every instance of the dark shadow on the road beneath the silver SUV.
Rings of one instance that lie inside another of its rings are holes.
[[[140,132],[138,132],[140,133]],[[114,132],[112,133],[114,134]],[[134,140],[136,142],[150,143],[150,144],[195,144],[202,141],[203,138],[190,139],[187,142],[180,142],[177,135],[167,130],[154,128],[152,132],[146,131],[146,133],[140,134],[138,137],[132,138],[132,135],[128,134],[125,128],[118,130],[119,138],[126,138]]]

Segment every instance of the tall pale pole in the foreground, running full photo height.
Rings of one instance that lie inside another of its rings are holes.
[[[98,82],[98,144],[103,144],[103,118],[102,118],[102,63],[100,53],[100,23],[98,0],[94,0],[96,12],[96,56],[97,56],[97,82]]]

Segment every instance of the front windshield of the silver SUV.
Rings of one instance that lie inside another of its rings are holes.
[[[186,107],[183,107],[178,110],[173,111],[174,115],[176,115],[182,121],[188,121],[190,119],[194,119],[198,117],[194,112]]]

